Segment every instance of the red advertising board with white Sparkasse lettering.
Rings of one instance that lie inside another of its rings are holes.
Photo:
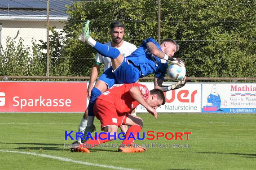
[[[0,82],[0,112],[84,112],[85,82]]]

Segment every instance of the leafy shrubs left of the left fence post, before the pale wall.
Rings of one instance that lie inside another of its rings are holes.
[[[0,75],[2,76],[44,76],[45,67],[42,62],[42,53],[32,40],[30,47],[24,47],[23,39],[18,43],[10,37],[6,41],[6,49],[0,47]]]

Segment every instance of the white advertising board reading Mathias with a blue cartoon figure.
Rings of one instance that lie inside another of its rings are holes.
[[[256,84],[203,83],[201,111],[256,113]]]

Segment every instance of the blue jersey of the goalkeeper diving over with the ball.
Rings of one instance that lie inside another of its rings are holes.
[[[163,80],[166,70],[168,68],[168,62],[155,57],[146,47],[146,43],[152,42],[154,43],[159,50],[162,51],[159,43],[154,41],[153,38],[147,38],[143,41],[140,47],[137,50],[133,51],[133,53],[126,57],[128,61],[131,61],[135,66],[140,68],[141,76],[147,76],[151,73],[154,73],[155,77],[158,77]],[[161,62],[162,61],[162,62]]]

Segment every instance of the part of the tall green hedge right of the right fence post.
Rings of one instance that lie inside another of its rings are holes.
[[[162,38],[178,41],[190,77],[255,77],[255,2],[187,0],[162,4]],[[171,11],[171,12],[170,12]]]

